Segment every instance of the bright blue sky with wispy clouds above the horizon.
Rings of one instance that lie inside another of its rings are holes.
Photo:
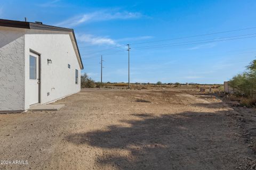
[[[222,83],[256,56],[253,0],[0,2],[2,19],[73,28],[95,81],[103,55],[103,81],[127,82],[126,44],[131,82]]]

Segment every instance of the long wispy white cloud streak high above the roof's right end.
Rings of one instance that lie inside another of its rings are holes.
[[[86,22],[97,22],[97,21],[108,21],[108,20],[126,20],[140,18],[141,14],[138,12],[108,12],[106,10],[86,13],[83,15],[78,15],[68,20],[56,23],[59,27],[75,27],[76,25],[86,23]]]

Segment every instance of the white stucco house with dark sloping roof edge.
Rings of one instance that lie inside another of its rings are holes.
[[[0,19],[0,113],[79,92],[82,69],[73,29]]]

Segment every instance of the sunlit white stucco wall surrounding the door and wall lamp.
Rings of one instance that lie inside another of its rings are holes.
[[[29,50],[41,54],[41,104],[81,90],[81,69],[69,32],[27,30],[25,35],[25,109],[29,108]],[[52,64],[47,64],[47,58]],[[71,65],[68,69],[68,64]],[[78,84],[75,84],[75,69]],[[50,95],[47,96],[47,92]]]

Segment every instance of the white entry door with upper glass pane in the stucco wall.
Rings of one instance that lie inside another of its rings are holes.
[[[39,56],[29,55],[29,105],[39,103]]]

